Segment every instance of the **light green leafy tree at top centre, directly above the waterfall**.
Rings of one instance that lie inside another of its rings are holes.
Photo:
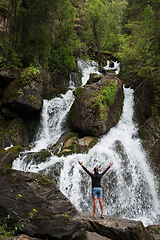
[[[102,50],[116,51],[119,44],[120,16],[125,0],[92,0],[83,11],[84,41],[95,46],[100,56]]]

